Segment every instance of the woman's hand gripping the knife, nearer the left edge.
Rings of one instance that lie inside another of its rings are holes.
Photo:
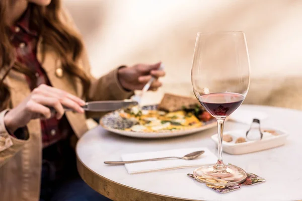
[[[14,133],[18,128],[24,127],[32,119],[50,118],[51,112],[48,107],[56,110],[56,118],[64,115],[64,107],[76,112],[84,113],[81,106],[84,100],[71,95],[63,90],[41,84],[16,108],[10,110],[4,117],[7,129]]]

